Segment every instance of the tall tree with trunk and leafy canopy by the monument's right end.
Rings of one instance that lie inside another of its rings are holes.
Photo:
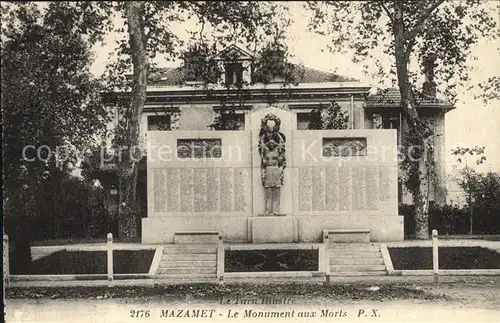
[[[434,77],[440,79],[446,98],[454,102],[457,86],[469,80],[471,48],[481,37],[497,36],[495,17],[487,3],[476,0],[325,1],[307,6],[314,14],[311,28],[332,36],[332,50],[349,48],[355,62],[372,59],[379,67],[378,76],[396,76],[408,124],[406,148],[415,152],[405,159],[409,173],[405,186],[416,207],[417,238],[428,238],[433,134],[416,108],[425,91],[419,90],[420,73],[411,70],[410,63],[431,67],[426,86],[435,87]],[[390,73],[378,58],[380,48],[393,62]],[[435,63],[439,68],[434,71]]]

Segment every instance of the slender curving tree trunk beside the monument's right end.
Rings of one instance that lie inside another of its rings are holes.
[[[409,51],[411,48],[405,49],[405,28],[403,21],[403,4],[401,1],[394,2],[394,49],[396,58],[396,73],[398,78],[398,86],[401,94],[401,107],[406,116],[409,126],[409,136],[413,136],[412,140],[420,148],[420,161],[415,169],[419,173],[418,183],[410,189],[415,205],[415,233],[417,239],[429,238],[429,194],[428,194],[428,169],[427,157],[429,151],[427,149],[426,140],[422,137],[421,120],[416,109],[415,100],[410,88],[408,76],[408,61]],[[407,158],[409,156],[406,156]]]

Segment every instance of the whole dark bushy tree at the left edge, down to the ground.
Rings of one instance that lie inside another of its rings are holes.
[[[96,143],[106,110],[90,44],[70,11],[59,3],[44,11],[2,3],[1,10],[5,230],[29,247],[43,238],[37,230],[49,228],[44,219],[61,216],[58,188],[78,153]]]

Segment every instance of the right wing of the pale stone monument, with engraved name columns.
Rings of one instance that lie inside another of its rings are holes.
[[[395,130],[294,131],[292,136],[291,201],[299,241],[319,241],[322,229],[370,229],[372,241],[403,239]]]

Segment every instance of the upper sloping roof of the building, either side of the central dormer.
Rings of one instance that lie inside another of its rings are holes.
[[[324,82],[358,82],[350,77],[341,76],[335,73],[323,72],[317,69],[303,67],[300,73],[300,83],[324,83]],[[184,84],[184,70],[182,67],[156,68],[150,71],[149,85],[152,86],[172,86]]]

